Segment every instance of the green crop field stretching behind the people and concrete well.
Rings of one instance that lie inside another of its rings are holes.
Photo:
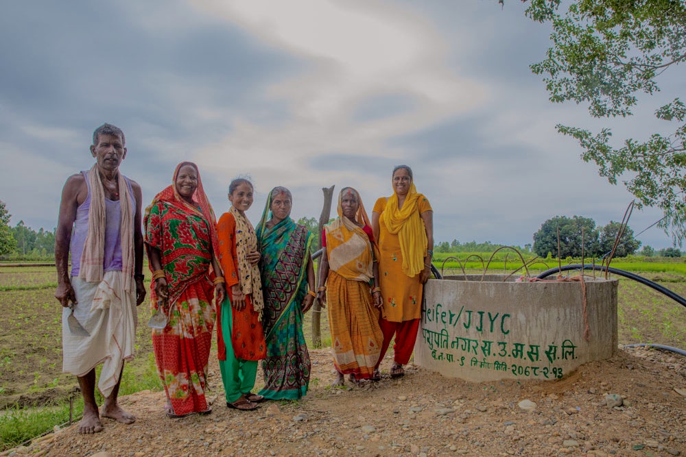
[[[453,254],[466,259],[470,254]],[[490,254],[478,254],[488,261]],[[436,267],[449,255],[437,254]],[[482,273],[481,262],[462,262],[467,273]],[[556,267],[532,266],[530,273]],[[569,262],[564,262],[565,264]],[[574,262],[576,263],[576,262]],[[587,262],[590,263],[590,262]],[[511,273],[521,266],[514,256],[494,260],[490,273]],[[446,262],[445,274],[461,274],[458,262]],[[621,259],[611,267],[641,273],[681,296],[686,296],[686,262],[647,262],[641,259]],[[535,268],[535,271],[534,271]],[[523,270],[522,270],[523,271]],[[522,271],[516,273],[520,275]],[[587,273],[592,275],[593,273]],[[603,273],[596,272],[595,275]],[[686,348],[686,308],[637,282],[619,280],[619,343],[661,343]],[[75,396],[76,415],[81,406],[80,395],[73,393],[77,382],[73,375],[62,373],[61,306],[54,298],[56,272],[54,267],[0,266],[0,450],[25,439],[51,430],[55,424],[69,419],[69,397]],[[305,334],[311,343],[311,313],[305,318]],[[137,356],[126,365],[121,393],[145,388],[161,389],[156,375],[150,329],[145,323],[149,306],[139,307]],[[322,341],[331,343],[327,312],[320,314]],[[36,409],[37,408],[37,409]]]

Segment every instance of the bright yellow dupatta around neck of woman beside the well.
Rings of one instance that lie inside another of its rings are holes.
[[[409,277],[418,275],[424,269],[429,241],[424,221],[419,214],[419,196],[412,182],[405,196],[403,209],[398,208],[398,195],[393,192],[381,214],[388,232],[398,235],[403,255],[403,273]]]

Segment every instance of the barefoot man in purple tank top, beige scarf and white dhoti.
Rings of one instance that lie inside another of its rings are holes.
[[[117,404],[123,362],[133,356],[136,306],[145,299],[143,198],[141,186],[119,173],[125,144],[123,132],[114,125],[95,129],[95,164],[64,184],[55,234],[55,297],[64,307],[63,370],[78,377],[84,397],[80,433],[100,432],[100,417],[123,423],[136,420]],[[98,388],[105,402],[98,412],[95,365],[100,362]]]

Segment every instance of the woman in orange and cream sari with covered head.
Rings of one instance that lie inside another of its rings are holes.
[[[338,219],[324,226],[318,298],[329,308],[336,378],[333,386],[377,380],[383,343],[379,328],[381,288],[374,236],[357,190],[344,187],[338,195]],[[326,285],[324,285],[326,284]],[[372,288],[373,286],[373,288]]]

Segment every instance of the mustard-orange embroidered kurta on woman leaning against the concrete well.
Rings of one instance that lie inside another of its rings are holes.
[[[379,214],[379,285],[383,297],[381,316],[386,321],[403,322],[421,317],[423,284],[420,275],[408,277],[403,273],[403,254],[398,235],[388,232],[381,213],[386,208],[387,197],[381,197],[374,205]],[[429,200],[419,195],[418,211],[412,217],[432,211]]]

